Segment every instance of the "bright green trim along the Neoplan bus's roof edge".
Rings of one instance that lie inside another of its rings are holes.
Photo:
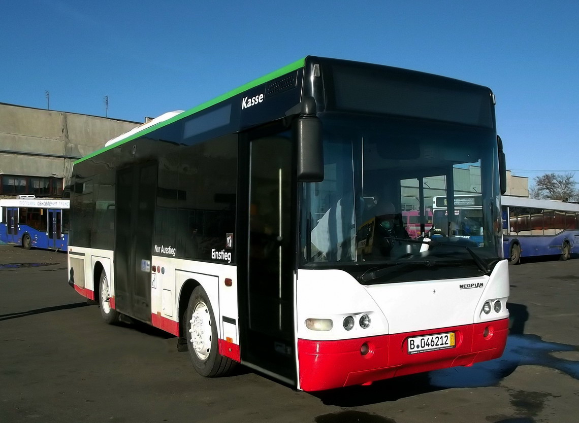
[[[240,94],[241,92],[250,90],[250,88],[257,87],[258,85],[266,83],[269,80],[276,79],[277,77],[285,75],[286,73],[290,73],[290,72],[292,72],[292,70],[303,68],[303,66],[305,65],[305,62],[306,62],[305,57],[301,58],[300,60],[296,60],[295,62],[290,63],[287,66],[284,66],[283,68],[274,70],[273,72],[270,72],[267,75],[264,75],[258,79],[255,79],[251,82],[248,82],[247,84],[243,84],[242,86],[237,87],[234,90],[231,90],[229,92],[226,92],[225,94],[222,94],[219,97],[215,97],[214,99],[207,101],[207,102],[204,102],[204,103],[200,104],[199,106],[193,107],[192,109],[185,110],[185,112],[179,113],[176,116],[173,116],[170,119],[167,119],[166,121],[159,122],[159,123],[153,125],[152,127],[145,128],[142,131],[134,133],[133,135],[130,135],[127,138],[119,140],[116,143],[111,144],[110,146],[106,146],[100,150],[94,151],[93,153],[90,153],[90,154],[86,155],[85,157],[78,159],[77,161],[74,162],[74,164],[76,165],[82,161],[89,159],[89,158],[95,157],[98,154],[104,153],[105,151],[108,151],[108,150],[111,150],[115,147],[118,147],[121,144],[130,142],[136,138],[140,138],[141,136],[146,135],[149,132],[153,132],[156,129],[164,127],[165,125],[168,125],[168,124],[171,124],[175,121],[181,120],[182,118],[188,117],[188,116],[195,114],[197,112],[201,112],[201,110],[207,109],[208,107],[216,105],[217,103],[220,103],[220,102],[225,101],[229,98],[232,98],[235,95]]]

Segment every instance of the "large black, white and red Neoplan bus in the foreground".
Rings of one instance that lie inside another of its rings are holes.
[[[309,56],[76,161],[68,282],[203,376],[320,391],[470,366],[507,340],[503,164],[489,88]],[[468,166],[476,248],[410,238],[408,181],[426,210],[429,178],[456,198]]]

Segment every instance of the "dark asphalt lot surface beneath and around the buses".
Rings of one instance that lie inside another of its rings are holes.
[[[1,423],[579,421],[579,259],[511,266],[500,359],[318,394],[243,367],[200,377],[175,337],[102,322],[66,259],[0,246]]]

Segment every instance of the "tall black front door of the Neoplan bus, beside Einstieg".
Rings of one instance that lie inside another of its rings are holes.
[[[295,385],[292,143],[290,135],[262,136],[249,147],[248,260],[247,269],[239,268],[241,362]]]

